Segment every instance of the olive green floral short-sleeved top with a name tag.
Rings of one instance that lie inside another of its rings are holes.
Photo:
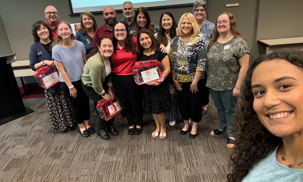
[[[234,89],[240,71],[239,59],[246,52],[249,53],[249,48],[243,39],[233,37],[224,44],[216,41],[207,54],[206,87],[218,91]]]

